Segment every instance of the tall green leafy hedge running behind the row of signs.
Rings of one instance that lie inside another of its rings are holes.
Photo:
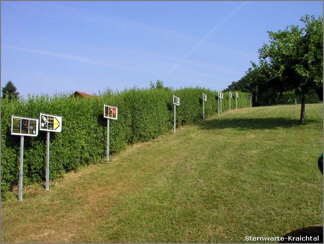
[[[91,98],[61,94],[11,102],[1,99],[1,194],[19,178],[20,136],[11,135],[11,115],[39,118],[43,112],[62,116],[61,133],[50,133],[50,179],[55,179],[105,157],[107,119],[102,115],[103,104],[118,107],[118,120],[110,120],[110,153],[117,153],[128,144],[149,141],[173,128],[173,94],[180,97],[177,125],[200,121],[202,93],[207,94],[205,117],[216,114],[217,91],[204,88],[108,90]],[[238,108],[243,108],[246,94],[239,94]],[[229,108],[228,98],[224,92],[223,111]],[[234,96],[231,107],[235,109]],[[28,185],[44,180],[46,132],[24,138],[23,182]]]

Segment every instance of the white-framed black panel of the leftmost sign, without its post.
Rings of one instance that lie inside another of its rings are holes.
[[[11,115],[11,134],[37,136],[38,119]]]

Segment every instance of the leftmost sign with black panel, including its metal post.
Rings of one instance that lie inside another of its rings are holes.
[[[19,190],[18,200],[22,200],[23,179],[23,142],[24,136],[38,135],[38,119],[11,115],[11,134],[20,135],[20,167],[19,167]]]

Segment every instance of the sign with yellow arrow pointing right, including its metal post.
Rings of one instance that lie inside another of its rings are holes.
[[[40,113],[40,131],[47,132],[46,138],[46,171],[45,171],[45,189],[49,190],[49,137],[50,132],[61,132],[62,116]]]

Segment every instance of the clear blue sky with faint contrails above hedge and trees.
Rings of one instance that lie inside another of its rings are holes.
[[[165,86],[224,89],[266,31],[323,15],[322,1],[1,2],[1,87],[21,95]]]

